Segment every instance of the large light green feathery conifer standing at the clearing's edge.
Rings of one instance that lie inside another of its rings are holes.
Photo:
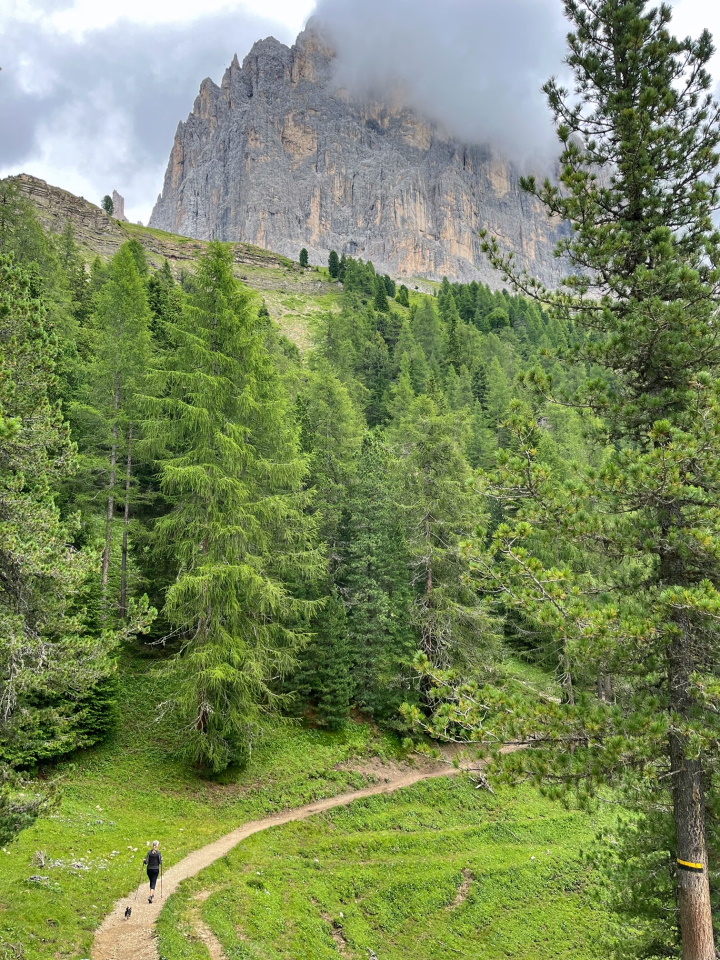
[[[312,581],[318,557],[297,431],[229,247],[210,244],[170,334],[146,401],[176,500],[157,525],[179,564],[164,611],[183,638],[169,707],[186,755],[219,771],[246,759],[294,663],[310,605],[289,584]]]

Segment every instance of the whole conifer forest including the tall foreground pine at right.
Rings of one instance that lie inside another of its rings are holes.
[[[524,184],[572,228],[559,290],[490,237],[495,292],[333,251],[301,352],[231,245],[101,260],[0,184],[1,843],[55,808],[52,770],[113,730],[143,660],[148,723],[209,779],[283,718],[361,718],[622,807],[592,854],[616,955],[715,956],[712,46],[664,7],[565,7],[559,178]]]

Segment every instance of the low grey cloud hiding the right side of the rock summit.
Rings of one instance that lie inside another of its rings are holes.
[[[454,136],[522,165],[557,153],[541,88],[562,71],[558,0],[319,0],[315,17],[350,90],[400,90]]]

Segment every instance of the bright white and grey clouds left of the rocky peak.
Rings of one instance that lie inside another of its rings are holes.
[[[200,81],[219,80],[262,37],[292,43],[303,26],[256,16],[257,2],[215,0],[220,9],[192,20],[197,4],[145,5],[143,18],[137,0],[18,0],[11,11],[0,0],[0,177],[25,171],[95,203],[117,189],[128,217],[147,221]]]

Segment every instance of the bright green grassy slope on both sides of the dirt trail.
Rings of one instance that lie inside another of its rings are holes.
[[[371,779],[348,766],[400,755],[367,725],[331,734],[288,724],[245,771],[204,781],[152,721],[165,682],[152,665],[124,664],[116,733],[59,766],[60,806],[0,854],[3,960],[89,956],[102,917],[143,879],[152,839],[170,867],[247,820]],[[366,948],[400,960],[418,956],[418,940],[428,960],[446,950],[590,960],[606,920],[579,858],[593,832],[586,814],[529,789],[418,784],[244,842],[168,901],[161,955],[207,960],[204,922],[231,960],[360,958]]]

